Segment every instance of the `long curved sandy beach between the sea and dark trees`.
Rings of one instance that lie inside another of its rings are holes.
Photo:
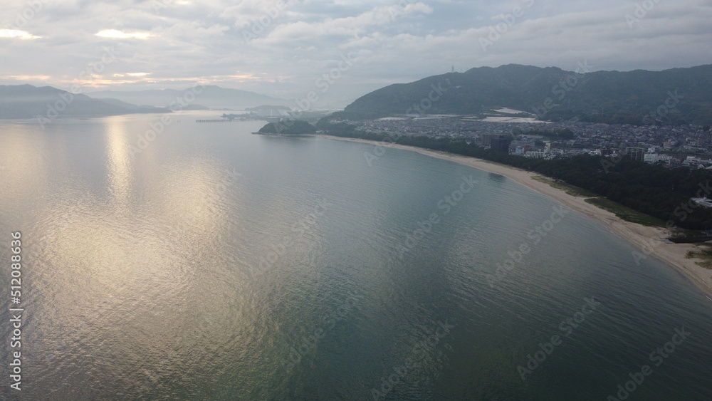
[[[557,202],[565,204],[567,207],[584,214],[585,216],[596,220],[603,224],[612,234],[619,236],[627,241],[632,246],[639,250],[639,259],[642,257],[654,257],[672,266],[676,271],[679,271],[691,283],[699,288],[712,301],[712,271],[705,269],[695,263],[696,259],[687,259],[688,251],[697,251],[698,247],[693,244],[671,244],[665,241],[669,236],[669,230],[661,227],[644,226],[642,224],[626,222],[617,217],[612,212],[600,209],[599,207],[585,202],[585,197],[575,197],[567,194],[562,189],[557,189],[547,184],[540,182],[533,177],[540,176],[534,172],[520,170],[516,167],[501,165],[487,160],[477,159],[475,157],[454,155],[451,153],[428,150],[421,147],[412,147],[406,145],[398,145],[388,142],[378,142],[373,140],[362,140],[348,137],[335,137],[332,135],[315,135],[325,137],[332,140],[343,140],[347,142],[361,142],[371,145],[381,145],[383,147],[394,147],[402,150],[410,150],[419,152],[422,155],[437,157],[439,159],[449,160],[451,162],[460,163],[469,167],[474,167],[478,170],[492,172],[503,175],[512,179],[519,184],[533,189],[540,194],[554,199]],[[631,258],[634,258],[631,254]],[[644,264],[642,259],[641,264]]]

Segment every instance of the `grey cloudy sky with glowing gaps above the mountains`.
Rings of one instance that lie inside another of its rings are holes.
[[[0,84],[356,98],[455,68],[712,63],[710,0],[4,0]],[[327,74],[327,77],[323,75]],[[329,77],[328,74],[331,74]],[[318,78],[322,78],[318,81]]]

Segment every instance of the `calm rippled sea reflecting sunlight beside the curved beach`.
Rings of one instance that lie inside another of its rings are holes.
[[[0,125],[5,399],[606,400],[642,365],[628,400],[712,397],[712,302],[600,224],[416,152],[195,118]]]

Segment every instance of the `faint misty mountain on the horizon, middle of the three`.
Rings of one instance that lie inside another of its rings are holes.
[[[186,110],[183,104],[199,104],[209,108],[251,108],[259,105],[290,105],[293,102],[285,99],[272,98],[247,90],[220,88],[215,85],[204,85],[185,90],[155,89],[138,91],[101,90],[87,93],[92,98],[113,98],[127,103],[152,105],[163,108],[180,108]]]

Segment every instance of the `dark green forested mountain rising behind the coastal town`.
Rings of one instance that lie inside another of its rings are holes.
[[[498,108],[523,110],[540,120],[709,125],[712,65],[629,72],[572,72],[516,64],[472,68],[375,90],[334,118],[481,115]]]

